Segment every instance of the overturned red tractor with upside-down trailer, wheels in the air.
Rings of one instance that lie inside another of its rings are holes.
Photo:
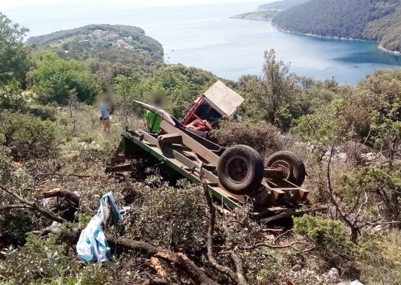
[[[211,89],[223,94],[214,96],[221,100],[205,100],[205,95],[200,97],[202,103],[208,103],[207,108],[213,109],[207,113],[233,115],[242,103],[242,97],[221,81],[216,84]],[[205,93],[211,97],[210,92]],[[199,106],[199,101],[199,98],[195,101],[194,108]],[[154,134],[126,129],[106,167],[107,173],[131,171],[130,160],[150,155],[189,181],[206,183],[210,193],[229,209],[252,204],[252,217],[262,222],[311,211],[304,205],[308,196],[308,191],[302,188],[305,166],[295,154],[277,152],[264,163],[260,154],[249,146],[224,148],[207,139],[203,131],[209,131],[211,124],[207,117],[197,115],[196,109],[188,113],[186,125],[183,125],[164,110],[134,102],[162,118],[160,131]],[[230,106],[223,105],[224,102],[230,102]],[[216,110],[216,104],[219,110]],[[196,128],[196,125],[200,127]]]

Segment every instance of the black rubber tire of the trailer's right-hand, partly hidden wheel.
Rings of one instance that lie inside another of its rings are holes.
[[[265,166],[272,167],[272,165],[277,161],[285,161],[291,165],[292,173],[290,174],[288,181],[294,183],[298,187],[301,187],[306,176],[305,164],[301,158],[294,153],[281,151],[271,155],[267,159]]]

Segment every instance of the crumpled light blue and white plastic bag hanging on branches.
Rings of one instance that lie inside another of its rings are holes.
[[[113,192],[103,195],[97,214],[93,216],[86,228],[81,232],[77,243],[78,258],[85,262],[107,262],[110,247],[102,230],[102,223],[106,218],[106,197],[109,197],[112,218],[121,221],[122,217],[114,199]]]

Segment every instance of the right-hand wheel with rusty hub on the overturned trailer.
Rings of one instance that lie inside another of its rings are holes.
[[[267,159],[265,166],[282,170],[285,178],[298,187],[301,187],[305,180],[305,165],[294,153],[286,151],[274,153]]]

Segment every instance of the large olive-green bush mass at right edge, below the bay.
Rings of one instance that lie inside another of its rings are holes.
[[[310,90],[314,91],[308,95]],[[335,93],[311,87],[302,96],[301,109],[306,115],[298,119],[292,132],[305,141],[338,146],[352,138],[394,156],[400,137],[400,70],[378,70],[356,88],[341,86]]]

